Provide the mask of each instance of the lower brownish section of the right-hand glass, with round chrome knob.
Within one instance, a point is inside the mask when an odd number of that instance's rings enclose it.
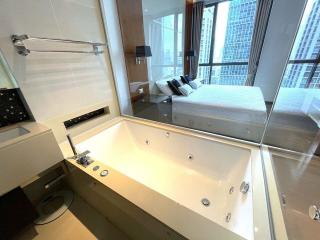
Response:
[[[320,159],[271,150],[278,197],[289,240],[317,239],[320,220]]]

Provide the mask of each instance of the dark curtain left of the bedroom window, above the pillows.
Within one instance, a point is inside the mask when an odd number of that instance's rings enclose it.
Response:
[[[191,19],[191,49],[195,51],[195,57],[190,58],[190,77],[192,79],[197,77],[198,62],[200,52],[200,38],[202,27],[202,15],[203,15],[204,2],[197,2],[192,7],[192,19]]]

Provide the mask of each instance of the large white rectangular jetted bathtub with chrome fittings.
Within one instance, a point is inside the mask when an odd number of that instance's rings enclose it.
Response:
[[[259,228],[267,232],[258,226],[268,222],[267,216],[260,216],[267,212],[261,205],[264,187],[253,192],[258,186],[254,178],[263,183],[262,173],[252,175],[253,166],[258,166],[252,164],[259,159],[257,148],[129,119],[83,138],[76,147],[90,150],[95,162],[87,168],[70,162],[183,236],[254,239]],[[96,165],[100,169],[95,172]],[[104,169],[107,177],[100,176]],[[243,181],[250,185],[246,194],[239,190]],[[209,206],[202,204],[203,198]]]

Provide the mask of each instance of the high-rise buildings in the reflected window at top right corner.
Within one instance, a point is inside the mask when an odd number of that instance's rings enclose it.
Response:
[[[310,9],[306,8],[305,20],[302,19],[300,29],[296,37],[290,60],[316,59],[320,51],[320,1],[310,1]],[[307,81],[311,76],[315,63],[288,64],[282,80],[282,87],[309,87],[320,88],[320,66],[311,79],[310,85]]]

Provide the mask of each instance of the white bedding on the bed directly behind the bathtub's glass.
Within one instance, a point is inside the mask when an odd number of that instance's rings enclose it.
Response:
[[[178,122],[181,114],[259,125],[267,117],[260,88],[229,85],[203,85],[189,96],[173,96],[172,114]]]

